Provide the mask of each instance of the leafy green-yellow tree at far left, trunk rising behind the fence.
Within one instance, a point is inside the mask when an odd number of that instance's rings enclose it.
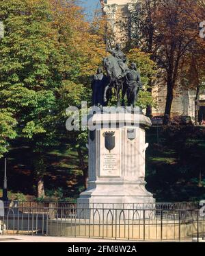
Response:
[[[58,54],[47,1],[0,2],[5,37],[0,46],[1,101],[18,121],[16,132],[32,148],[38,196],[44,196],[42,152],[53,145]]]

